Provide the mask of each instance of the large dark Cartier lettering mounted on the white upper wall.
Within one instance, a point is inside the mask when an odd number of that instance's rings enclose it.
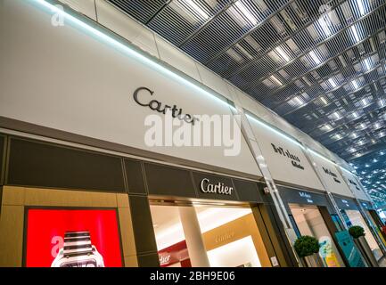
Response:
[[[142,96],[140,96],[140,91],[144,91]],[[133,98],[136,103],[143,107],[149,107],[151,110],[156,110],[161,114],[166,114],[167,111],[171,112],[173,118],[178,118],[186,123],[192,124],[194,126],[195,121],[199,120],[190,114],[183,114],[182,108],[177,108],[177,105],[168,105],[164,104],[157,100],[150,100],[149,95],[152,96],[154,91],[150,90],[147,87],[136,88],[136,91],[133,94]]]

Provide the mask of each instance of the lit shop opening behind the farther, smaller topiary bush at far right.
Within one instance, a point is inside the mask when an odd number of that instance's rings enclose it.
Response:
[[[370,232],[369,227],[365,224],[364,217],[360,214],[358,210],[349,210],[341,209],[341,215],[345,219],[345,222],[348,227],[352,225],[359,225],[365,230],[365,240],[367,241],[369,247],[373,251],[373,254],[377,260],[382,258],[382,251],[378,243],[374,239],[373,234]]]

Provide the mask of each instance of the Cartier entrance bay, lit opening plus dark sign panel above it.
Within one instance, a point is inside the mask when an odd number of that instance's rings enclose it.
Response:
[[[287,263],[262,183],[148,163],[144,173],[160,266]]]

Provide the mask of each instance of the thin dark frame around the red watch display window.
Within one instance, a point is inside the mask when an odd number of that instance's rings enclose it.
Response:
[[[115,218],[117,222],[117,235],[119,238],[119,261],[120,267],[125,267],[124,252],[122,245],[122,232],[120,230],[119,223],[119,213],[118,208],[113,207],[69,207],[69,206],[24,206],[24,223],[23,223],[23,243],[22,243],[22,256],[21,256],[21,266],[27,267],[27,236],[28,236],[28,227],[29,227],[29,210],[39,209],[39,210],[112,210],[115,212]]]

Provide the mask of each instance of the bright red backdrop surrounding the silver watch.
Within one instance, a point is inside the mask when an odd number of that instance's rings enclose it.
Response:
[[[50,267],[65,232],[87,231],[105,267],[122,265],[117,212],[113,209],[28,209],[26,266]]]

